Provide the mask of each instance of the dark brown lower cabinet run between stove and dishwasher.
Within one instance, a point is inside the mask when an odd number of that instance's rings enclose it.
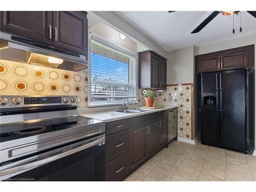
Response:
[[[121,181],[167,145],[168,111],[105,124],[105,180]]]

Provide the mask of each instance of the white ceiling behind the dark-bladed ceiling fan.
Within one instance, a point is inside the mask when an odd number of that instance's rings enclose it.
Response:
[[[256,18],[242,11],[242,29],[240,33],[240,15],[234,16],[232,34],[232,16],[219,14],[200,32],[191,32],[210,15],[212,11],[121,11],[116,12],[127,22],[146,34],[166,51],[188,46],[201,46],[225,39],[256,33]]]

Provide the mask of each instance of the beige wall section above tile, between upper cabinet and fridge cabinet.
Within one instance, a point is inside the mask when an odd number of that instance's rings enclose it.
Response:
[[[191,83],[194,75],[194,46],[168,52],[167,84]]]

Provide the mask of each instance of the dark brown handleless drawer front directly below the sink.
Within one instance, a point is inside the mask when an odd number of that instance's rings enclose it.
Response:
[[[141,124],[147,124],[150,122],[154,122],[156,120],[159,119],[159,113],[155,112],[155,113],[150,113],[150,114],[146,114],[146,115],[140,115],[137,117],[132,117],[131,118],[131,127],[134,126],[138,126]]]

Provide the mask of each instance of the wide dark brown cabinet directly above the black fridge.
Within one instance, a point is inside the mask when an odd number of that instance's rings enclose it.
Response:
[[[196,56],[196,73],[254,66],[254,45]]]

